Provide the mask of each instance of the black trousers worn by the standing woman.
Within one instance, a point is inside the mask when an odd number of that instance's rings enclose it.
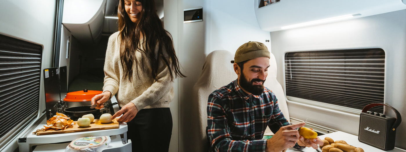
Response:
[[[172,135],[169,108],[141,109],[127,125],[133,152],[168,152]]]

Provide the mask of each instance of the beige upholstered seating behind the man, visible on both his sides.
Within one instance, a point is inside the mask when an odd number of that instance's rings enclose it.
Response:
[[[285,118],[290,122],[282,86],[276,81],[275,57],[272,53],[270,55],[270,67],[268,68],[268,77],[266,78],[264,86],[274,92],[276,98],[278,98],[281,111],[285,115]],[[196,141],[190,142],[193,142],[192,144],[196,146],[196,150],[199,152],[207,151],[207,137],[205,130],[207,126],[207,100],[209,94],[237,79],[237,74],[235,74],[233,70],[233,64],[230,62],[231,60],[234,60],[234,54],[230,51],[216,50],[210,53],[203,65],[203,71],[199,80],[193,87],[193,106],[199,107],[197,111],[197,115],[199,115],[197,116],[198,120],[195,120],[194,122],[199,125],[198,128],[192,128],[194,137],[197,137],[197,139],[194,139]],[[265,135],[273,135],[273,133],[267,128]]]

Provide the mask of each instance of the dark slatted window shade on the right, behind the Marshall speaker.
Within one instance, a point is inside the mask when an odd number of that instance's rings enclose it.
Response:
[[[288,52],[286,96],[363,109],[384,102],[384,70],[382,49]],[[383,106],[370,111],[383,113]]]

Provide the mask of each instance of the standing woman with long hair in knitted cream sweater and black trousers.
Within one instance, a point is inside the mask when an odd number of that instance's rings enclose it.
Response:
[[[132,151],[168,151],[172,133],[169,103],[173,79],[185,77],[170,34],[156,14],[154,0],[120,0],[119,31],[108,41],[103,93],[97,109],[116,95],[121,109],[112,119],[127,122]]]

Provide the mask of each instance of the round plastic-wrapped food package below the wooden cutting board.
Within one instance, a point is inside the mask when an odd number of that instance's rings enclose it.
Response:
[[[108,147],[110,141],[109,136],[82,137],[69,143],[65,152],[101,152]]]

